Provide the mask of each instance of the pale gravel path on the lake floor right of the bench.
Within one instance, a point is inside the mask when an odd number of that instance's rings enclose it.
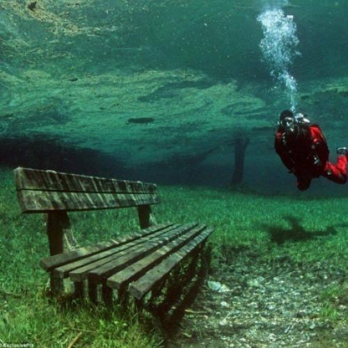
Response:
[[[329,262],[241,250],[209,280],[221,287],[203,287],[168,347],[348,347],[347,274]]]

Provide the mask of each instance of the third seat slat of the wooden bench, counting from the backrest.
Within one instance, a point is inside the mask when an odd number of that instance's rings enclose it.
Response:
[[[105,258],[97,262],[92,262],[85,267],[75,269],[74,271],[71,271],[69,273],[69,277],[73,281],[81,281],[89,276],[91,276],[91,278],[95,278],[98,276],[100,271],[104,272],[104,269],[107,269],[109,271],[110,268],[119,267],[120,262],[122,263],[125,258],[127,260],[134,260],[134,262],[136,262],[137,260],[135,260],[134,258],[139,257],[139,255],[144,255],[144,253],[149,251],[151,247],[153,248],[154,245],[158,246],[161,240],[177,236],[180,233],[184,233],[185,231],[194,228],[196,225],[197,223],[191,223],[184,226],[179,226],[174,230],[170,230],[169,232],[166,232],[166,234],[159,236],[159,238],[153,239],[152,242],[147,241],[147,243],[145,243],[141,248],[135,246],[115,256],[111,255],[109,258]],[[97,274],[92,274],[95,270],[97,270]]]

